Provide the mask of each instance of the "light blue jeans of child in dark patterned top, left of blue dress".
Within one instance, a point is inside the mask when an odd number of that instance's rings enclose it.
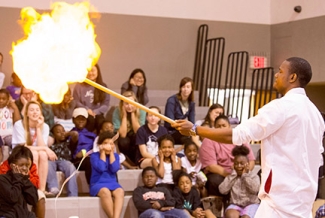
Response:
[[[56,177],[57,170],[62,171],[65,178],[68,178],[74,171],[76,171],[76,168],[73,163],[67,160],[49,160],[49,171],[46,180],[48,189],[59,188],[58,179]],[[75,175],[67,182],[67,191],[69,197],[78,196],[78,185]]]

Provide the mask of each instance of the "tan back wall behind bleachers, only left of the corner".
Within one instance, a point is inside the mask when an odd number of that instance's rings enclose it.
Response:
[[[6,85],[12,72],[11,43],[22,37],[19,13],[20,9],[0,7]],[[204,23],[209,25],[209,38],[226,38],[225,59],[232,51],[270,52],[269,25],[102,14],[95,21],[95,31],[105,82],[118,89],[140,67],[146,72],[149,89],[177,90],[181,78],[193,75],[197,30]]]

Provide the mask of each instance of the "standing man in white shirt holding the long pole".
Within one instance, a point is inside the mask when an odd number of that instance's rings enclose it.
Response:
[[[271,101],[233,130],[196,128],[185,120],[174,125],[182,134],[197,133],[218,142],[241,145],[261,140],[261,204],[257,218],[312,217],[325,125],[304,90],[311,77],[306,60],[288,58],[275,74],[273,84],[283,97]]]

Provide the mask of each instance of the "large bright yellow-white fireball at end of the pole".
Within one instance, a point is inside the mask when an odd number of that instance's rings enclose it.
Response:
[[[21,10],[24,38],[12,45],[13,69],[45,103],[60,103],[68,83],[82,82],[101,54],[90,4],[56,2],[51,13]]]

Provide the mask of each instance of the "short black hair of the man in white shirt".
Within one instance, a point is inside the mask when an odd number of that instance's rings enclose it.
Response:
[[[306,85],[310,82],[312,77],[311,66],[308,63],[308,61],[298,57],[291,57],[288,58],[286,61],[290,63],[289,73],[297,74],[300,87],[305,88]]]

